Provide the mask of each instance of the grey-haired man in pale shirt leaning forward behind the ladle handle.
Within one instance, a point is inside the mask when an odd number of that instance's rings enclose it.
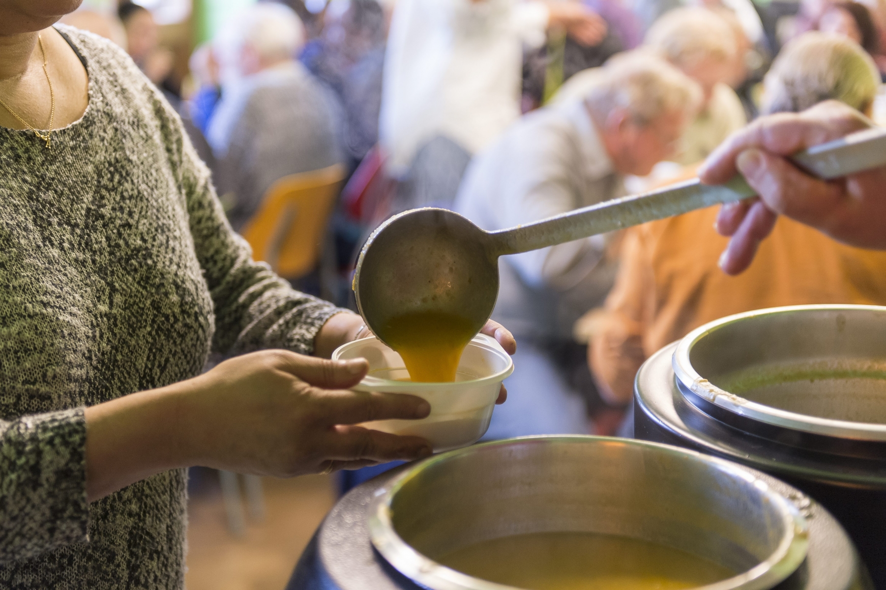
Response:
[[[632,53],[598,68],[583,100],[526,115],[473,159],[455,210],[483,229],[509,228],[620,197],[623,175],[647,175],[670,157],[701,90],[664,60]],[[607,242],[588,237],[501,258],[493,317],[507,319],[520,346],[509,407],[496,409],[487,438],[587,432],[582,400],[556,357],[572,324],[610,290]]]

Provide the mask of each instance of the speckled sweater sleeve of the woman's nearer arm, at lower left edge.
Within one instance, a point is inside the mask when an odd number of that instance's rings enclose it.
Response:
[[[0,420],[0,563],[85,542],[82,408]]]

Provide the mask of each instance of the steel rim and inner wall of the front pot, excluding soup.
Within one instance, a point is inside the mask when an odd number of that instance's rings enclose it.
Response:
[[[803,499],[795,499],[803,502]],[[705,590],[772,588],[803,562],[795,501],[747,470],[637,440],[532,437],[417,464],[379,489],[369,534],[397,570],[434,590],[506,590],[433,561],[527,532],[600,532],[680,548],[741,572]]]

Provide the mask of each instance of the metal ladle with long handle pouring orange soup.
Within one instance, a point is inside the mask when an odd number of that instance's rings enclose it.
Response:
[[[791,159],[823,179],[880,167],[886,165],[886,129],[859,131]],[[498,297],[499,256],[753,195],[741,176],[722,185],[696,179],[498,231],[479,229],[446,209],[413,209],[385,221],[363,245],[354,275],[357,308],[369,330],[386,344],[388,322],[413,312],[459,315],[470,319],[476,333],[489,319]]]

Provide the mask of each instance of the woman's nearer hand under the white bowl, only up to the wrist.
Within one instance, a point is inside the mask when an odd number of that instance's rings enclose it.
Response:
[[[369,363],[328,361],[284,350],[224,361],[193,381],[182,401],[191,462],[275,477],[315,473],[335,462],[357,469],[431,454],[424,439],[370,431],[357,423],[424,418],[411,395],[348,391]]]

